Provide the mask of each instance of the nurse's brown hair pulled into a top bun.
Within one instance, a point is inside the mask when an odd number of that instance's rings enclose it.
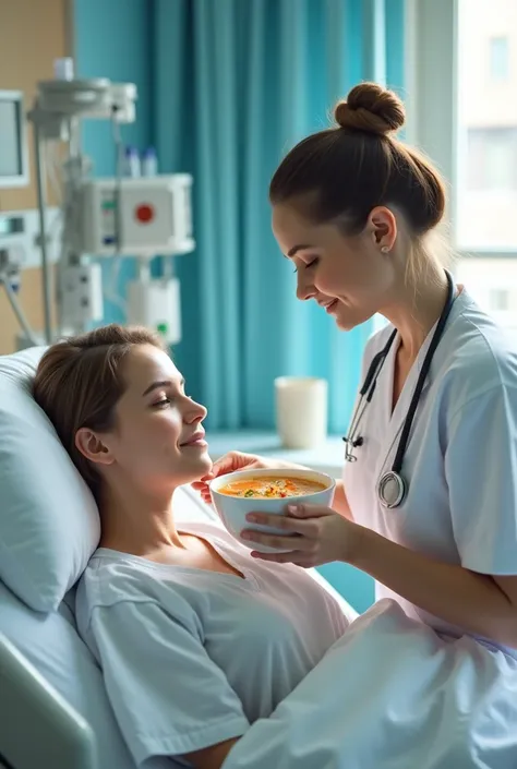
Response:
[[[272,204],[306,196],[312,220],[335,220],[348,235],[363,230],[372,208],[389,204],[404,214],[410,236],[435,227],[445,187],[429,160],[393,137],[405,121],[398,96],[362,83],[334,115],[335,128],[308,136],[284,158],[270,182]]]

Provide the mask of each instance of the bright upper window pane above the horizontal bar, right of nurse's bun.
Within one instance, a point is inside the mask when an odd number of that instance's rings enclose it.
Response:
[[[517,250],[516,0],[458,0],[456,45],[456,243]]]

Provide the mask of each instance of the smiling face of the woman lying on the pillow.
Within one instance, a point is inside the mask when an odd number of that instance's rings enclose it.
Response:
[[[204,406],[189,398],[170,358],[152,345],[135,346],[124,361],[127,389],[116,428],[103,441],[109,472],[153,492],[200,479],[212,468],[204,441]]]

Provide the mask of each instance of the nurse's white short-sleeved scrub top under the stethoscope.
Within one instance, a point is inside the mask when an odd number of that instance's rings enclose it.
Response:
[[[363,375],[392,331],[383,328],[370,340]],[[465,289],[455,299],[412,423],[401,470],[407,496],[393,509],[378,502],[377,481],[392,468],[433,333],[393,413],[398,337],[392,345],[361,425],[364,444],[357,449],[357,461],[345,467],[353,517],[446,563],[482,574],[517,575],[517,347]],[[438,632],[464,633],[378,582],[376,597],[395,599],[408,616]]]

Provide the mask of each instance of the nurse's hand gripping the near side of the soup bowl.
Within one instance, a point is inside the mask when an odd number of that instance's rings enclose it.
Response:
[[[286,532],[286,536],[281,536],[244,529],[241,537],[250,542],[289,551],[253,551],[253,557],[276,563],[293,563],[304,568],[321,566],[332,561],[350,561],[358,546],[361,528],[330,507],[320,505],[288,505],[285,516],[249,513],[247,520],[249,524],[272,526]]]

